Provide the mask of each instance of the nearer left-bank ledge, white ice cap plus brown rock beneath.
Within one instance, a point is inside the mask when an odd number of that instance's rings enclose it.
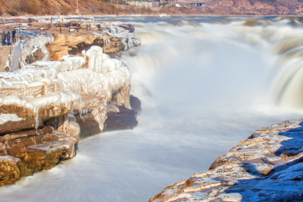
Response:
[[[75,157],[80,126],[74,115],[91,115],[98,133],[108,114],[133,119],[130,84],[128,69],[100,46],[0,72],[0,185]]]

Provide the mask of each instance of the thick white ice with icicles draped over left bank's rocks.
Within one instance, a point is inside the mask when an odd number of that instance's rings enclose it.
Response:
[[[93,110],[101,130],[106,120],[107,104],[114,92],[117,102],[130,108],[131,75],[121,61],[103,54],[99,46],[83,52],[83,57],[64,56],[62,62],[38,61],[27,65],[27,69],[0,73],[0,78],[0,95],[3,96],[0,103],[33,111],[37,116],[36,127],[42,120],[39,119],[39,109],[65,106],[70,111],[77,102],[81,102],[81,96],[95,96],[93,99],[100,100],[89,105],[86,98],[82,101],[83,106],[77,108]]]

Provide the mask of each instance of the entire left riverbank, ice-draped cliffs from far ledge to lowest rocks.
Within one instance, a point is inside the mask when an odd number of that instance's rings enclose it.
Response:
[[[138,124],[140,101],[130,95],[130,72],[107,53],[127,51],[141,39],[129,24],[104,22],[93,31],[89,25],[24,23],[17,42],[2,46],[7,61],[0,72],[1,186],[74,158],[81,133]],[[81,132],[79,124],[90,130]]]

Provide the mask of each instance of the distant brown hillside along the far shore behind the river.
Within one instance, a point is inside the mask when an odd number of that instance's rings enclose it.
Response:
[[[303,15],[303,0],[211,0],[202,7],[144,8],[78,0],[80,15]],[[186,2],[190,2],[186,1]],[[192,0],[198,1],[198,0]],[[201,0],[200,2],[205,2]],[[76,0],[0,0],[1,16],[75,15]],[[117,0],[113,0],[117,2]]]

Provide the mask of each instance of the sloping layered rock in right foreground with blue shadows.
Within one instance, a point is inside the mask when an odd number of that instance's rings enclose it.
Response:
[[[302,201],[303,120],[257,130],[209,171],[165,188],[159,201]]]

